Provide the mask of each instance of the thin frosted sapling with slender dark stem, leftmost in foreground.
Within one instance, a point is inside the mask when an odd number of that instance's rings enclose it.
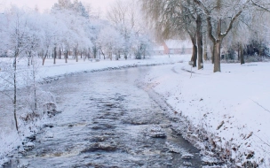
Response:
[[[5,88],[12,88],[12,95],[8,95],[12,100],[13,106],[13,116],[15,121],[16,130],[19,132],[18,126],[18,85],[21,82],[21,70],[18,67],[18,63],[25,53],[29,50],[36,49],[37,40],[30,38],[36,38],[34,32],[31,31],[31,24],[28,24],[28,13],[26,11],[20,10],[15,6],[9,11],[4,13],[2,18],[4,22],[4,29],[1,29],[1,34],[4,35],[2,50],[9,53],[8,56],[11,57],[9,61],[4,64],[4,73],[1,73],[2,84]],[[34,30],[33,30],[34,31]],[[35,36],[35,37],[34,37]]]

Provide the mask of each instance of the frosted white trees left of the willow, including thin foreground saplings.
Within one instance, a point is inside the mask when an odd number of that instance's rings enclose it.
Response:
[[[59,0],[50,12],[39,13],[12,6],[0,14],[0,56],[10,57],[0,60],[0,92],[12,100],[18,132],[18,96],[26,96],[18,92],[20,83],[26,81],[23,76],[28,76],[28,95],[33,97],[29,111],[37,111],[36,59],[42,59],[44,65],[47,57],[53,57],[54,64],[57,58],[64,58],[67,63],[69,56],[78,61],[79,56],[84,60],[97,58],[98,52],[110,59],[113,55],[116,59],[121,56],[127,59],[128,55],[145,57],[151,42],[137,25],[135,5],[131,18],[124,11],[125,21],[113,20],[113,15],[117,15],[115,10],[121,8],[119,3],[108,12],[109,21],[91,16],[91,12],[77,0]],[[25,59],[27,64],[22,65]]]

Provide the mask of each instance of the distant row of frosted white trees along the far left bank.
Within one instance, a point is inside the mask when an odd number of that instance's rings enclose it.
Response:
[[[115,4],[115,8],[120,8]],[[116,9],[112,8],[111,12]],[[143,32],[134,27],[128,27],[127,22],[119,23],[113,20],[113,14],[108,12],[108,19],[91,17],[83,4],[75,0],[59,0],[52,6],[49,13],[26,11],[12,6],[0,18],[1,56],[41,57],[43,65],[47,57],[64,57],[72,53],[78,61],[78,56],[94,57],[100,50],[103,55],[123,53],[124,57],[137,55],[142,49],[150,46],[150,41]],[[110,16],[110,17],[109,17]],[[141,47],[144,46],[144,47]],[[105,56],[104,56],[105,57]],[[116,57],[116,59],[118,58]]]

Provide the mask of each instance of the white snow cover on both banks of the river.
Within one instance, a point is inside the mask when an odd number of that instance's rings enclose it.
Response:
[[[57,59],[56,65],[52,64],[52,59],[47,59],[44,66],[39,66],[39,80],[165,64],[150,71],[144,82],[163,96],[176,115],[187,117],[195,128],[203,128],[212,144],[217,149],[228,149],[228,155],[239,165],[251,157],[251,161],[257,163],[264,160],[262,167],[269,167],[270,64],[222,64],[222,73],[212,73],[213,65],[205,64],[203,70],[193,68],[191,76],[188,72],[191,67],[187,65],[189,59],[189,56],[158,56],[145,60],[79,60],[78,63],[68,60],[68,64],[64,63],[64,59]],[[4,127],[0,129],[4,130]],[[193,135],[196,136],[195,133]],[[0,158],[20,143],[15,137],[12,132],[0,134]],[[196,146],[203,149],[203,142]]]

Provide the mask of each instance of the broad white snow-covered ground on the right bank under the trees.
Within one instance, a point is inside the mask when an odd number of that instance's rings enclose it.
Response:
[[[216,149],[227,149],[238,165],[250,157],[270,167],[270,64],[221,67],[222,73],[212,73],[213,66],[205,64],[191,76],[187,63],[165,65],[145,80],[176,114],[207,131]]]

